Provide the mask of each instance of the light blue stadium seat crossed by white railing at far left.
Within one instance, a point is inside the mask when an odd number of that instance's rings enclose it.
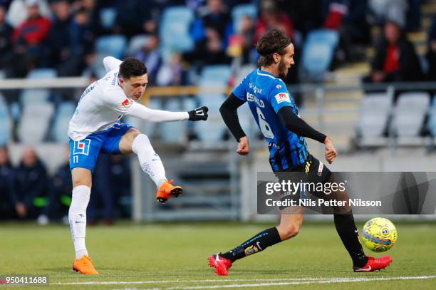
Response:
[[[53,68],[36,68],[30,71],[26,78],[28,79],[44,79],[56,78],[57,73]],[[29,88],[21,92],[21,103],[41,103],[46,102],[50,97],[50,90],[46,88]]]

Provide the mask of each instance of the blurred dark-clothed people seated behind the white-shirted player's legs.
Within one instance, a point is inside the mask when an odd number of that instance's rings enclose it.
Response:
[[[65,162],[53,175],[27,147],[18,166],[11,164],[6,147],[0,147],[0,219],[37,219],[68,223],[71,203],[69,150]],[[93,195],[88,206],[88,222],[103,220],[113,224],[115,218],[131,216],[130,163],[120,155],[100,155],[93,175]]]

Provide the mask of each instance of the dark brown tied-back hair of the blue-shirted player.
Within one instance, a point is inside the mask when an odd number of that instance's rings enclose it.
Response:
[[[259,58],[259,66],[270,66],[274,63],[273,54],[279,53],[284,55],[286,47],[291,44],[291,38],[286,36],[284,31],[280,29],[269,29],[257,41],[256,50],[261,55]]]

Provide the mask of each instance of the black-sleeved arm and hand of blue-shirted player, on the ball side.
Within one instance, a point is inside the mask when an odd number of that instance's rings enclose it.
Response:
[[[296,133],[297,135],[316,140],[319,143],[324,143],[326,145],[325,155],[327,162],[331,163],[335,160],[338,153],[336,152],[336,149],[330,138],[313,129],[311,125],[306,123],[306,121],[299,118],[299,116],[297,116],[292,110],[292,107],[282,107],[279,112],[277,112],[277,115],[279,115],[281,122],[288,130]]]

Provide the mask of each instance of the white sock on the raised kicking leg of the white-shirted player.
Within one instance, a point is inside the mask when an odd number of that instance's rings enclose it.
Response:
[[[137,155],[142,171],[151,177],[157,188],[159,188],[163,182],[167,181],[162,161],[155,150],[153,150],[147,135],[137,135],[135,140],[133,140],[132,150]]]

